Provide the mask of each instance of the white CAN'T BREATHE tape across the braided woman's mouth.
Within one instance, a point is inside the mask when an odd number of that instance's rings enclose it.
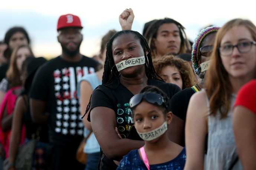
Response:
[[[118,71],[121,71],[122,69],[125,69],[127,67],[141,65],[141,64],[145,64],[145,56],[129,58],[127,60],[118,62],[117,64],[115,64],[115,66]]]

